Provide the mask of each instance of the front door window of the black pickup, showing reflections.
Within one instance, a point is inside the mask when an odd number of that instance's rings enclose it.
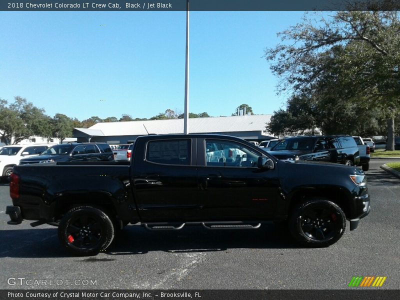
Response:
[[[205,141],[205,165],[207,166],[256,166],[260,153],[235,141]]]

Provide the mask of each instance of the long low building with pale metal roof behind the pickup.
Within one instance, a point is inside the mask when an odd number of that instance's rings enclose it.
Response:
[[[265,126],[271,114],[242,116],[201,117],[188,119],[189,133],[220,133],[238,136],[248,140],[270,138]],[[77,141],[103,141],[107,143],[127,143],[148,133],[183,133],[183,119],[145,120],[97,123],[89,128],[74,128]]]

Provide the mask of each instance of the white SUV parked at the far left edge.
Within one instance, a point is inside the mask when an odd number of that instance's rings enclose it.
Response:
[[[36,156],[50,147],[50,144],[8,145],[0,149],[0,174],[8,176],[14,165],[25,157]]]

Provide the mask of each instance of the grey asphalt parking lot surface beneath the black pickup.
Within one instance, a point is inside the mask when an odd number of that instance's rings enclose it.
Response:
[[[400,179],[379,168],[387,161],[372,159],[366,172],[370,214],[355,231],[347,222],[335,244],[316,249],[298,247],[272,223],[258,230],[173,232],[131,225],[106,253],[72,257],[55,227],[6,223],[10,198],[1,184],[0,288],[346,289],[352,276],[386,276],[380,288],[398,289]]]

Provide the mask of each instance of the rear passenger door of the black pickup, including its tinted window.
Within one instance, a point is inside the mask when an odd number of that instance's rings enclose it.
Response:
[[[142,221],[198,217],[195,140],[149,136],[136,142],[131,179]]]

